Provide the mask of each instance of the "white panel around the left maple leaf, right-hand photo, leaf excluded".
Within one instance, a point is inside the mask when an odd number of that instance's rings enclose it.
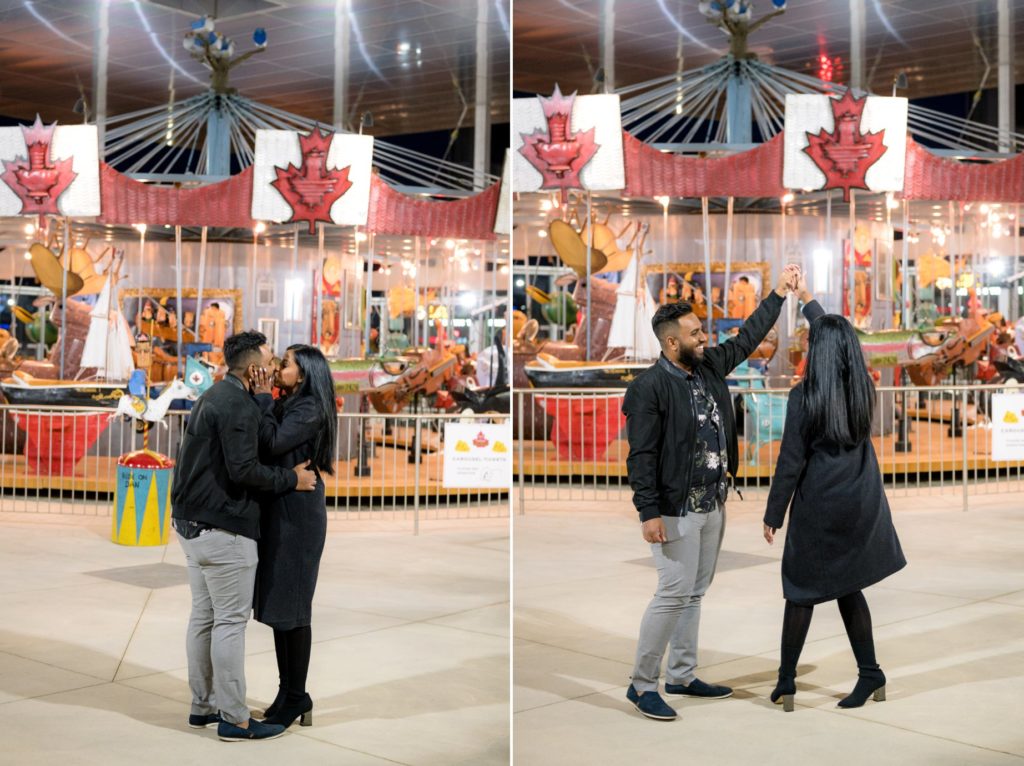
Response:
[[[597,151],[579,171],[579,183],[554,181],[523,155],[534,136],[551,139],[550,126],[542,101],[562,99],[557,87],[552,99],[543,97],[512,99],[512,190],[540,192],[546,188],[587,188],[594,192],[626,186],[623,160],[623,119],[618,96],[614,94],[566,96],[572,100],[568,124],[569,140],[592,141]],[[593,130],[592,136],[587,136]],[[536,162],[536,161],[535,161]]]

